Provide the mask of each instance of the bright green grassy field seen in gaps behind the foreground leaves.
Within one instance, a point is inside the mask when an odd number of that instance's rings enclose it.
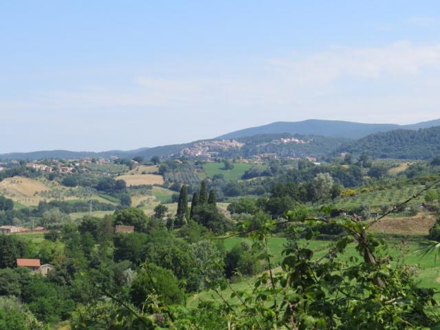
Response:
[[[244,239],[246,241],[250,241],[250,239]],[[224,241],[224,246],[226,250],[232,249],[232,247],[238,243],[243,241],[243,238],[233,237],[230,239],[226,239]],[[420,282],[422,287],[432,287],[434,289],[440,289],[440,265],[439,263],[434,262],[434,255],[428,255],[424,258],[421,258],[417,253],[419,249],[419,244],[415,241],[410,241],[408,243],[402,244],[397,239],[388,239],[388,255],[393,258],[392,263],[396,263],[397,259],[402,263],[407,265],[415,265],[419,267],[417,272],[417,280]],[[283,260],[282,252],[284,250],[283,245],[285,244],[286,239],[272,237],[268,240],[268,248],[273,258],[272,261],[274,263],[274,271],[280,270],[278,267]],[[314,258],[318,259],[321,256],[324,256],[328,248],[331,244],[331,241],[305,241],[300,240],[301,244],[308,244],[311,250],[316,251],[314,253]],[[352,243],[347,247],[347,250],[340,256],[344,260],[348,260],[351,256],[356,258],[360,258],[359,253],[355,250],[355,244]],[[252,292],[252,285],[255,281],[255,278],[243,278],[242,281],[237,283],[232,283],[231,286],[234,290],[239,291],[247,291]],[[225,291],[221,292],[223,298],[228,300],[230,303],[239,303],[237,298],[230,298],[232,294],[231,289],[225,289]],[[199,301],[201,300],[216,300],[219,301],[219,297],[212,290],[207,290],[204,292],[199,292],[193,296],[188,297],[188,307],[195,308],[197,307]]]

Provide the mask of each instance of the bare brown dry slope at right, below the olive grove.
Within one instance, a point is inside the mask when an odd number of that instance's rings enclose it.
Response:
[[[423,212],[410,218],[386,217],[371,226],[371,232],[386,234],[426,235],[435,223],[435,217]]]

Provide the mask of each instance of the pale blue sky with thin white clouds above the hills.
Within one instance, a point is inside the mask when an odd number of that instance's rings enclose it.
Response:
[[[1,1],[0,153],[440,118],[439,1],[362,2]]]

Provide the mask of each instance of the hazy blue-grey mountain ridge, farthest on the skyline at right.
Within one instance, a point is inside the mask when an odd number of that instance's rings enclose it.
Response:
[[[322,135],[329,137],[344,137],[359,139],[366,135],[378,132],[392,131],[394,129],[426,129],[432,126],[440,126],[440,119],[416,124],[366,124],[362,122],[345,122],[342,120],[318,120],[309,119],[301,122],[272,122],[263,126],[241,129],[224,135],[217,139],[237,139],[239,137],[257,134],[290,133],[303,135]]]

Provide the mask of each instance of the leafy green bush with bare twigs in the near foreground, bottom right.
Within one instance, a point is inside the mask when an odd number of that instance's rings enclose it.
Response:
[[[219,296],[218,303],[200,303],[197,309],[168,305],[159,292],[149,294],[140,311],[126,311],[118,326],[109,329],[433,329],[439,319],[428,313],[437,307],[434,290],[417,285],[415,270],[386,255],[386,243],[367,233],[369,225],[358,217],[317,217],[297,208],[285,222],[307,227],[288,228],[285,258],[275,272],[267,250],[267,236],[275,223],[265,219],[252,232],[254,248],[266,261],[252,290],[236,291],[221,277],[208,277],[206,285]],[[340,226],[345,235],[325,256],[300,245],[299,236],[311,239],[316,223]],[[304,229],[305,228],[305,229]],[[355,243],[358,257],[344,258]],[[215,267],[216,261],[210,263]],[[220,267],[220,265],[219,265]],[[228,300],[224,289],[232,291]],[[238,301],[238,303],[231,303]],[[126,323],[124,323],[126,322]],[[74,329],[85,329],[76,327]]]

